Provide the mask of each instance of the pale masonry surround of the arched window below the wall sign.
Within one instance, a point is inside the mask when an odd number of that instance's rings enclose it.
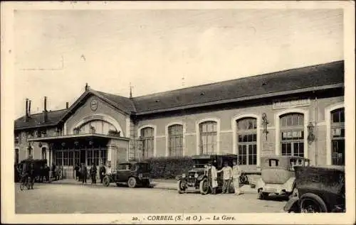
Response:
[[[276,126],[276,155],[280,155],[281,150],[280,148],[280,141],[279,141],[279,136],[280,136],[280,116],[283,114],[290,114],[290,113],[299,113],[299,114],[304,114],[304,158],[308,158],[308,123],[309,123],[309,110],[308,109],[286,109],[283,111],[279,111],[277,114],[275,114],[274,117],[274,123]]]

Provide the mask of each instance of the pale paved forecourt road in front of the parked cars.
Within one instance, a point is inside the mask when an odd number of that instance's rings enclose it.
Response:
[[[101,185],[15,184],[16,213],[246,213],[283,212],[285,201],[258,200],[256,194],[178,194],[155,188]]]

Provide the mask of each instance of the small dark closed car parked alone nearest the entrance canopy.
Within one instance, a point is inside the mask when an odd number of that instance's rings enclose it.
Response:
[[[143,162],[127,162],[117,165],[117,170],[103,178],[103,185],[108,187],[110,182],[115,182],[117,186],[120,183],[127,183],[128,187],[151,187],[150,165]]]

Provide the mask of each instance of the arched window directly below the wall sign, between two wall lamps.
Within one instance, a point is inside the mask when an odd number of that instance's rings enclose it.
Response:
[[[280,117],[281,155],[304,157],[304,115],[284,114]]]

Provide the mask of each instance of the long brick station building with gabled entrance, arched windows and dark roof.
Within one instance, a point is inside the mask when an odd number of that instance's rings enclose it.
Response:
[[[243,170],[266,155],[345,164],[344,62],[205,84],[141,97],[85,92],[66,109],[15,121],[15,161],[63,165],[235,153]]]

